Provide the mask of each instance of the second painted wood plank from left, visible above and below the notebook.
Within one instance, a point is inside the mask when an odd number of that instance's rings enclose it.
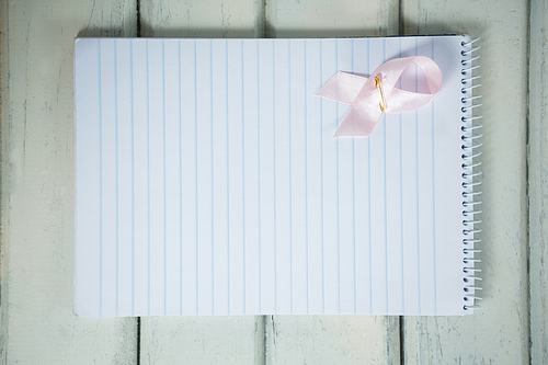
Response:
[[[141,35],[255,37],[264,31],[262,1],[150,0],[141,3]],[[262,364],[262,317],[141,319],[141,364]]]

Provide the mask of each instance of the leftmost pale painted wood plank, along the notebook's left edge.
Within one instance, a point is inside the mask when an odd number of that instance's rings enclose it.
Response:
[[[72,312],[72,50],[79,34],[135,35],[136,2],[3,1],[1,11],[2,363],[133,364],[135,319]]]

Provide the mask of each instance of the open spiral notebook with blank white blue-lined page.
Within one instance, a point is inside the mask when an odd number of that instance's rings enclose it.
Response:
[[[77,39],[75,312],[471,313],[473,42]],[[410,56],[437,96],[334,137],[322,85]],[[413,65],[396,87],[429,92]]]

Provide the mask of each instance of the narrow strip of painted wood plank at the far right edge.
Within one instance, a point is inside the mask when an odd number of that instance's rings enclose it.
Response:
[[[530,360],[548,363],[548,4],[530,2],[529,283]]]

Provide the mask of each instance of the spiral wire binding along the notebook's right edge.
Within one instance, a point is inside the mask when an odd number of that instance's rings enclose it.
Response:
[[[476,292],[481,289],[481,287],[478,286],[478,282],[481,281],[478,273],[480,273],[481,270],[475,266],[476,263],[481,262],[481,260],[475,258],[476,253],[481,252],[481,250],[475,248],[476,243],[481,242],[481,239],[476,237],[476,233],[481,232],[481,230],[477,228],[477,225],[481,223],[478,218],[478,215],[481,213],[479,209],[481,205],[481,201],[479,199],[481,196],[481,190],[479,189],[481,185],[481,180],[479,180],[481,171],[477,169],[481,162],[476,159],[481,155],[479,148],[482,146],[482,142],[479,141],[479,139],[483,136],[478,132],[481,129],[482,125],[477,122],[481,119],[481,115],[473,114],[473,110],[481,106],[481,104],[476,103],[481,95],[473,94],[473,91],[481,85],[479,83],[475,84],[473,81],[478,80],[480,76],[472,75],[473,70],[479,68],[479,65],[472,65],[473,61],[479,59],[479,56],[472,55],[472,53],[480,48],[479,46],[473,46],[473,43],[478,39],[479,37],[470,39],[467,36],[465,41],[460,43],[463,46],[463,50],[460,52],[463,56],[460,61],[463,65],[460,71],[463,75],[463,79],[460,80],[463,84],[460,89],[463,94],[460,99],[463,103],[463,126],[460,129],[463,130],[463,272],[465,273],[463,277],[465,283],[463,300],[465,310],[481,308],[476,304],[477,300],[481,299],[476,296]]]

